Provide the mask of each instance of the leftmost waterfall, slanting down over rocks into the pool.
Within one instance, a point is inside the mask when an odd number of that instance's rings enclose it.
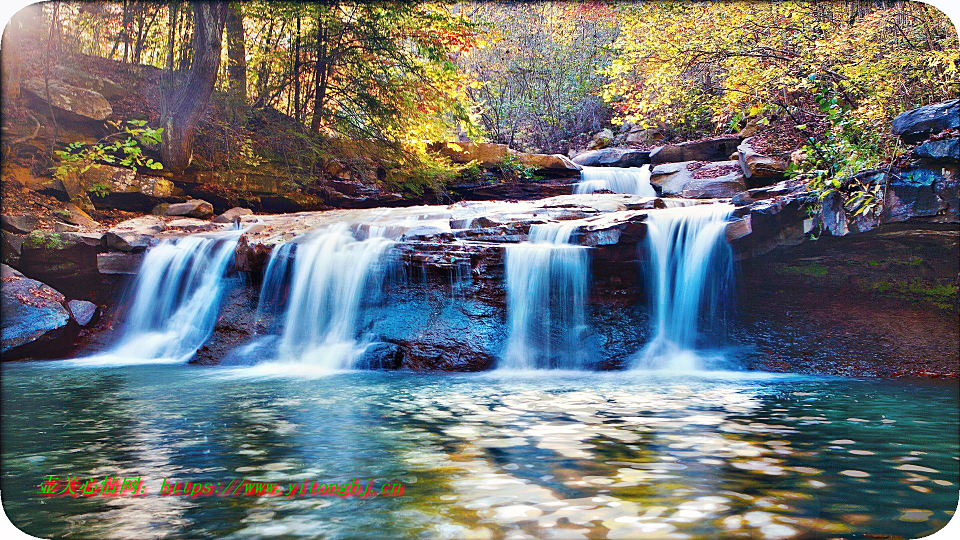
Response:
[[[165,240],[150,249],[133,283],[114,363],[186,362],[213,332],[241,231]]]

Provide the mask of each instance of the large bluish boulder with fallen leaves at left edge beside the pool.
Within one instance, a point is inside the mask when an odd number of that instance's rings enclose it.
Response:
[[[0,265],[0,307],[3,311],[0,352],[7,360],[67,337],[70,312],[56,289]]]

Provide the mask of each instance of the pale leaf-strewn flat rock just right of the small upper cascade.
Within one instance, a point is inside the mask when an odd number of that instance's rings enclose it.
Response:
[[[657,165],[650,170],[650,183],[664,196],[690,199],[732,197],[747,189],[736,161],[684,161]]]

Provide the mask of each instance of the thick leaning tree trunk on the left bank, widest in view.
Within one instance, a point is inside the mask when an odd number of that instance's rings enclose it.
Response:
[[[190,165],[194,130],[217,82],[220,44],[227,18],[226,2],[192,4],[193,61],[186,81],[176,88],[165,89],[160,113],[163,166],[175,173],[183,172]]]

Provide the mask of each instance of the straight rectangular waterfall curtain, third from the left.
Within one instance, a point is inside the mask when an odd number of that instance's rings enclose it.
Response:
[[[534,225],[506,249],[509,338],[500,368],[582,369],[589,257],[574,225]]]

